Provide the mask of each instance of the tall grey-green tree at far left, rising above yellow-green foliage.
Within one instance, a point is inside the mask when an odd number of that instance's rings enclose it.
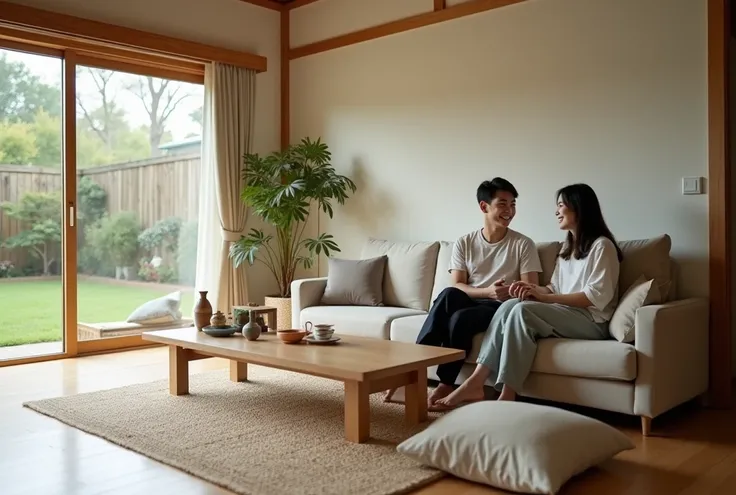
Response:
[[[60,87],[42,82],[23,62],[0,52],[0,122],[31,123],[39,110],[61,116]]]

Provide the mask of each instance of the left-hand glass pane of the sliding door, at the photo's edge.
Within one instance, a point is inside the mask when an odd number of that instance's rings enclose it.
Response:
[[[0,48],[0,360],[63,352],[61,75]]]

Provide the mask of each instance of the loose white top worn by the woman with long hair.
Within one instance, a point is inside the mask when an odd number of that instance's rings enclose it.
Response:
[[[607,237],[599,237],[583,259],[558,257],[548,287],[555,294],[583,292],[593,303],[587,308],[593,320],[598,323],[609,321],[618,304],[619,268],[613,242]]]

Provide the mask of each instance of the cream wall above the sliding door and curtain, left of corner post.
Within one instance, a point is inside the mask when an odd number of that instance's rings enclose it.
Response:
[[[268,58],[257,76],[254,151],[279,147],[279,13],[239,0],[11,0],[44,10],[151,31]],[[251,217],[253,218],[253,217]],[[249,227],[259,223],[249,223]],[[275,282],[261,266],[248,270],[251,298],[263,300]]]

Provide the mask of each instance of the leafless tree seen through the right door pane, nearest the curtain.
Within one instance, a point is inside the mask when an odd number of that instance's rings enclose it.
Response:
[[[158,147],[166,132],[166,122],[176,107],[190,95],[182,91],[183,86],[170,79],[138,76],[128,85],[128,90],[141,100],[148,113],[148,128],[151,156],[158,156]]]

